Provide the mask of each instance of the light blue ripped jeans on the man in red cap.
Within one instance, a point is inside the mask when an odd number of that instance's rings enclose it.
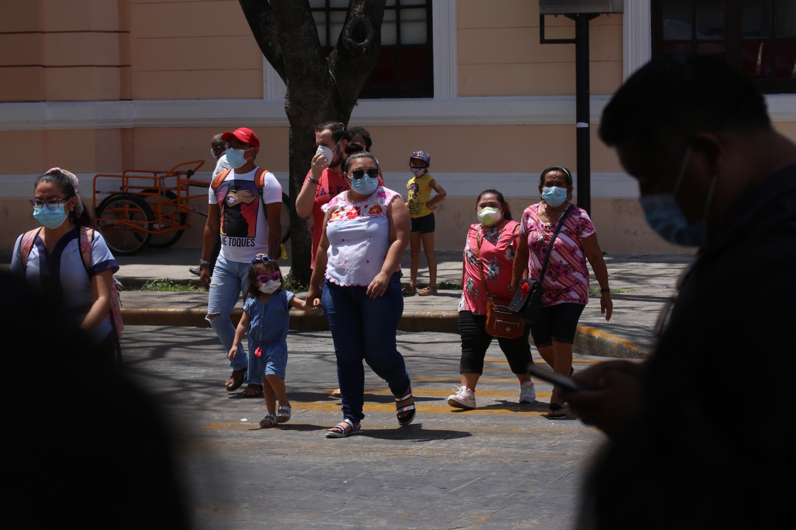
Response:
[[[238,303],[240,293],[245,293],[248,289],[248,270],[251,263],[240,263],[228,261],[219,257],[216,267],[213,267],[213,278],[210,279],[210,296],[207,302],[207,314],[218,314],[213,320],[209,320],[210,327],[216,332],[221,344],[224,345],[224,357],[232,349],[232,342],[235,341],[235,326],[229,319],[232,309]],[[252,349],[252,341],[248,341],[249,350]],[[243,370],[248,368],[248,357],[243,345],[240,345],[238,354],[234,360],[229,361],[233,370]],[[247,382],[244,380],[244,383]],[[258,383],[258,381],[252,381]]]

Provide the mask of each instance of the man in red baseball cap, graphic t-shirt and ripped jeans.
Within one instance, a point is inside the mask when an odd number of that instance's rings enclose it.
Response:
[[[257,167],[259,138],[246,127],[221,134],[227,142],[227,163],[232,170],[218,173],[209,189],[209,208],[202,238],[200,279],[209,290],[207,319],[228,352],[235,338],[235,326],[229,319],[241,291],[248,289],[248,269],[257,254],[279,256],[282,234],[282,186],[273,173]],[[221,251],[211,279],[208,262],[217,236]],[[250,345],[251,346],[251,345]],[[251,348],[250,348],[251,349]],[[237,355],[229,363],[232,376],[226,381],[232,392],[244,383],[248,356]],[[262,373],[248,373],[244,397],[263,394]]]

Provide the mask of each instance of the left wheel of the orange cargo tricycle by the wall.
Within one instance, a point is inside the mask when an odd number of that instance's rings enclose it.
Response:
[[[97,207],[96,216],[105,243],[115,255],[136,255],[152,239],[146,230],[154,230],[154,213],[141,197],[114,193]]]

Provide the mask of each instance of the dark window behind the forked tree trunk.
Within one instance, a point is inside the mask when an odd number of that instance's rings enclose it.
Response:
[[[326,55],[338,43],[349,0],[310,0]],[[434,97],[431,0],[387,0],[381,51],[359,97]]]

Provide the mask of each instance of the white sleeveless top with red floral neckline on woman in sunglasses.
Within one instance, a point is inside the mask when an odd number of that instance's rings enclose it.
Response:
[[[329,217],[326,279],[341,286],[368,286],[380,273],[390,247],[387,206],[400,193],[379,186],[361,202],[340,193],[321,207]]]

